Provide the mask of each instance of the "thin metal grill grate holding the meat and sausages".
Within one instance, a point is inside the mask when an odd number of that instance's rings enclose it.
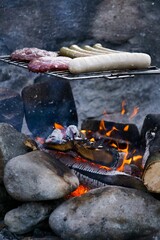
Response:
[[[28,69],[28,63],[20,62],[20,61],[13,61],[10,59],[9,55],[0,56],[0,61],[9,63],[18,67]],[[69,71],[54,71],[54,72],[45,72],[47,75],[60,77],[67,80],[82,80],[82,79],[94,79],[94,78],[106,78],[108,80],[113,79],[122,79],[122,78],[130,78],[134,77],[135,75],[148,75],[148,74],[160,74],[160,69],[154,66],[151,66],[148,69],[143,70],[129,70],[129,71],[103,71],[103,72],[91,72],[91,73],[84,73],[84,74],[72,74]]]

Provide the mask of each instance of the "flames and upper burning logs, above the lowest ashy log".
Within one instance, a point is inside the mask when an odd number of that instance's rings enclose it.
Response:
[[[129,119],[137,114],[137,109],[134,108]],[[125,102],[122,101],[121,115],[125,112]],[[87,162],[91,168],[92,165],[99,168],[99,173],[100,169],[102,172],[105,169],[106,172],[129,172],[130,175],[141,177],[144,149],[135,125],[90,120],[82,123],[80,131],[74,125],[65,128],[57,123],[53,128],[48,138],[40,139],[40,143],[45,143],[47,149],[58,150],[57,155],[67,152],[72,156],[74,152],[77,154],[75,161],[80,166],[81,162]]]

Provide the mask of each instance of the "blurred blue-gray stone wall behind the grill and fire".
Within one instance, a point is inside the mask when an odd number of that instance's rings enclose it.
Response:
[[[8,0],[0,8],[1,53],[10,54],[22,47],[58,50],[71,44],[100,42],[113,49],[146,52],[151,55],[152,65],[159,66],[159,9],[160,2],[150,0],[86,0],[67,4],[65,0]],[[0,86],[20,91],[32,84],[36,76],[3,64]],[[149,75],[127,80],[71,81],[79,125],[83,119],[95,117],[131,122],[141,128],[147,114],[159,112],[159,78]],[[124,116],[120,115],[122,100],[127,103]],[[139,108],[139,113],[130,119],[134,107]]]

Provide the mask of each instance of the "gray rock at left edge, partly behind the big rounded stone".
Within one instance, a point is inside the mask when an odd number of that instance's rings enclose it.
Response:
[[[0,123],[0,181],[5,164],[13,157],[25,154],[28,148],[24,142],[28,137],[7,123]]]

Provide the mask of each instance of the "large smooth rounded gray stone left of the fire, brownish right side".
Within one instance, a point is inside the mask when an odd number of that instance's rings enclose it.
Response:
[[[79,181],[68,167],[37,150],[6,164],[4,184],[14,199],[40,201],[64,197],[78,187]]]

